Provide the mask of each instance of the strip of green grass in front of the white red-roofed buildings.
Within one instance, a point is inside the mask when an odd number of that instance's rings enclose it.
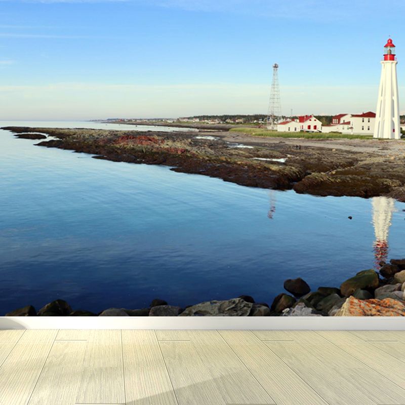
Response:
[[[270,138],[306,138],[306,139],[373,139],[372,135],[349,135],[321,132],[278,132],[269,131],[264,128],[232,128],[230,132],[240,132],[252,136],[270,137]]]

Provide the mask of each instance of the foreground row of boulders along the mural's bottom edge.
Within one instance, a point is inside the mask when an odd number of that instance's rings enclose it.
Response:
[[[242,295],[181,308],[154,299],[148,308],[108,308],[99,313],[73,310],[58,299],[38,311],[32,305],[5,316],[405,316],[405,259],[381,262],[380,270],[362,270],[337,287],[311,291],[302,279],[288,279],[269,305]]]

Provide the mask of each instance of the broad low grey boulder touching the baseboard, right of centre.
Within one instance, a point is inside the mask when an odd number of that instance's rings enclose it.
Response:
[[[180,316],[248,316],[253,304],[241,298],[227,301],[207,301],[192,305]]]

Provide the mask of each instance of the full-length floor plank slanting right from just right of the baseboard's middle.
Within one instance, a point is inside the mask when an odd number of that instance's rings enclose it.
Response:
[[[219,333],[277,405],[327,405],[317,392],[252,332]]]

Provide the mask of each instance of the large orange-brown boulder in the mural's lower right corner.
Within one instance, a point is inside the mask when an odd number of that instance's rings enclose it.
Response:
[[[335,316],[405,316],[405,303],[391,298],[358,300],[349,297]]]

